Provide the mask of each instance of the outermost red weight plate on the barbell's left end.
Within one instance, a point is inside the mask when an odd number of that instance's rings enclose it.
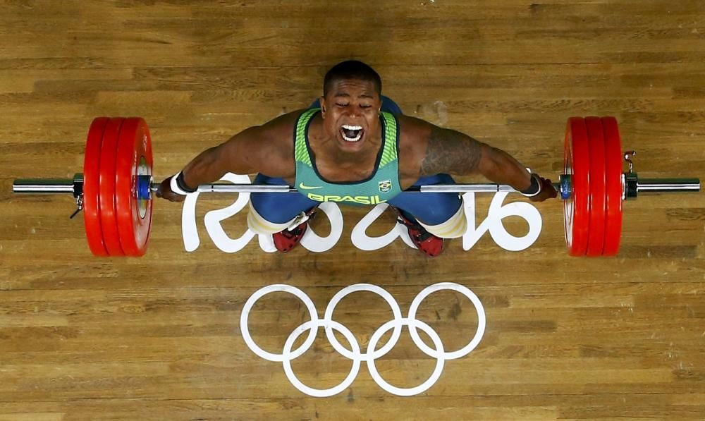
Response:
[[[86,150],[83,156],[83,224],[85,225],[88,247],[95,256],[107,256],[100,226],[100,150],[103,132],[109,118],[94,118],[88,129]]]

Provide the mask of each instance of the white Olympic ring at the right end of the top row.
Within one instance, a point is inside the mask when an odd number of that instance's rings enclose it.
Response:
[[[461,293],[462,295],[465,295],[475,306],[475,311],[477,312],[477,331],[475,332],[475,336],[470,340],[470,343],[460,348],[459,350],[443,354],[443,358],[445,358],[446,360],[455,360],[457,358],[465,357],[465,355],[469,354],[470,352],[472,352],[472,350],[474,350],[474,348],[477,347],[480,341],[482,341],[482,336],[484,335],[484,330],[486,326],[484,307],[482,307],[482,303],[480,302],[480,299],[477,298],[477,295],[470,291],[470,288],[453,282],[439,282],[435,283],[434,285],[428,286],[418,295],[416,295],[416,298],[414,298],[414,300],[412,301],[411,307],[409,307],[409,319],[416,319],[416,312],[419,309],[419,305],[421,305],[421,302],[424,300],[424,298],[437,291],[446,290],[455,291]],[[412,324],[408,324],[407,326],[409,327],[409,333],[411,334],[412,340],[414,341],[416,346],[418,346],[419,349],[422,350],[424,354],[428,355],[431,358],[440,358],[440,355],[437,355],[437,350],[432,350],[431,348],[429,348],[429,346],[426,345],[426,343],[424,343],[424,341],[422,341],[421,337],[419,336],[419,332],[416,330],[415,326],[412,326]]]

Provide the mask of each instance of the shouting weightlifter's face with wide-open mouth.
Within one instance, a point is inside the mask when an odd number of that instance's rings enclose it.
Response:
[[[326,133],[345,151],[364,147],[379,131],[381,99],[374,82],[360,79],[334,80],[321,97],[321,115]]]

